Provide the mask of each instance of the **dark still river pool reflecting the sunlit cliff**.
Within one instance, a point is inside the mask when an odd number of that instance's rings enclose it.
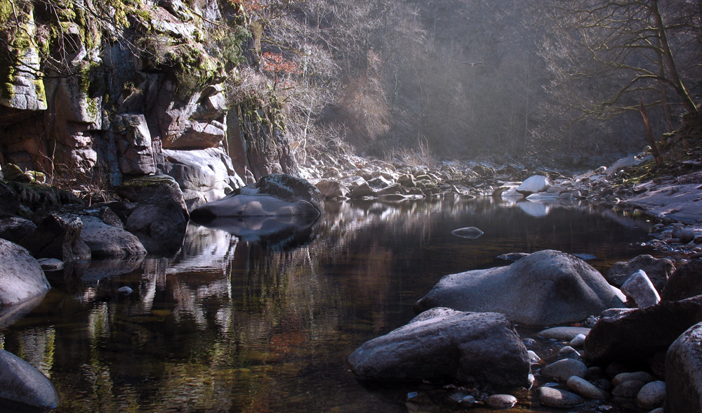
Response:
[[[651,223],[597,206],[327,209],[302,233],[260,239],[191,225],[175,258],[50,274],[43,301],[0,324],[0,344],[51,378],[56,412],[406,412],[417,385],[364,386],[344,360],[406,324],[443,275],[494,266],[507,252],[592,254],[600,270],[651,252],[641,246]],[[484,235],[451,235],[467,226]],[[124,286],[133,293],[117,293]]]

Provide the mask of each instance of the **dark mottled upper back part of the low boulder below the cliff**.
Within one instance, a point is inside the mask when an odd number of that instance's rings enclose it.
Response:
[[[270,195],[288,202],[303,199],[314,205],[319,214],[324,214],[324,196],[316,186],[303,178],[286,173],[271,173],[256,184],[260,195]]]

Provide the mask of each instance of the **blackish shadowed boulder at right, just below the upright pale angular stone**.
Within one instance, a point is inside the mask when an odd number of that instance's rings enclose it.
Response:
[[[677,336],[701,321],[702,296],[607,310],[585,339],[585,356],[597,364],[647,360],[664,353]]]

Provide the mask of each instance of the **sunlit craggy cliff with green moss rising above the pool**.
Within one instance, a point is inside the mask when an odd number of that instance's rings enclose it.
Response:
[[[0,21],[3,166],[99,190],[166,173],[189,209],[296,173],[276,107],[227,96],[256,53],[238,2],[0,0]]]

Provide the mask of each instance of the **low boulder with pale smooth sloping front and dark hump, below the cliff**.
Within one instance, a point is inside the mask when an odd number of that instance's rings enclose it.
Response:
[[[324,214],[324,197],[303,178],[285,174],[268,175],[256,185],[239,188],[215,202],[192,211],[195,221],[215,218],[266,216],[319,216]]]

